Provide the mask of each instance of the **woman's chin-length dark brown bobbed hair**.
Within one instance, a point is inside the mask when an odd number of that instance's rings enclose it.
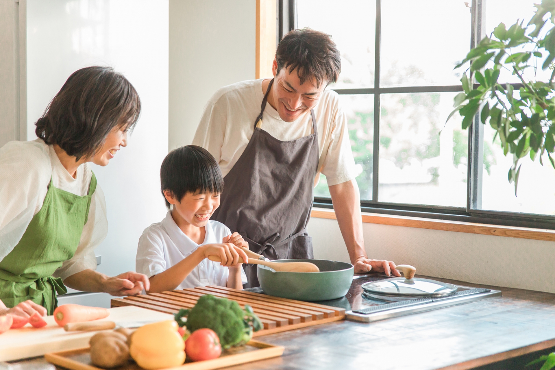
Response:
[[[132,129],[139,114],[139,94],[127,78],[110,67],[87,67],[69,76],[35,133],[79,160],[102,148],[115,126]]]

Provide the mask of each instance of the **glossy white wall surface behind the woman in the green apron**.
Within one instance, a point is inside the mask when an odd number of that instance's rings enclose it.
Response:
[[[79,68],[111,65],[137,89],[143,110],[127,148],[93,168],[109,223],[96,250],[98,271],[134,271],[139,236],[166,212],[159,171],[168,153],[168,0],[29,0],[27,59],[29,140],[34,122]]]

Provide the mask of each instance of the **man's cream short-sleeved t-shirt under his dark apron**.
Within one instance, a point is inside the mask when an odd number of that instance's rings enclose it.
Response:
[[[263,79],[249,80],[223,87],[204,107],[193,144],[202,146],[214,156],[224,176],[243,154],[253,135],[254,120],[260,113],[264,98],[262,82]],[[314,114],[320,150],[319,172],[326,175],[328,185],[354,179],[357,171],[347,132],[347,118],[341,110],[339,95],[332,90],[324,90]],[[281,141],[308,136],[312,133],[310,111],[293,122],[285,122],[268,103],[261,129]],[[315,180],[319,178],[317,174]]]

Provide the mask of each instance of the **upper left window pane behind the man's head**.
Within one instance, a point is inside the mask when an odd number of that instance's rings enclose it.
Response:
[[[374,87],[375,0],[297,0],[297,27],[331,34],[341,52],[334,89]]]

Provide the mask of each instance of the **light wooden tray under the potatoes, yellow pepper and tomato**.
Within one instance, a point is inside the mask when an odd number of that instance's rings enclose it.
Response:
[[[46,361],[62,366],[71,370],[105,370],[90,363],[90,347],[74,349],[44,355]],[[278,357],[284,351],[282,346],[272,346],[258,341],[250,341],[245,346],[224,349],[219,358],[209,359],[199,362],[188,362],[172,370],[210,370],[221,367],[234,366],[241,363],[259,361],[265,358]],[[136,363],[129,361],[129,364],[115,368],[115,370],[142,370]]]

